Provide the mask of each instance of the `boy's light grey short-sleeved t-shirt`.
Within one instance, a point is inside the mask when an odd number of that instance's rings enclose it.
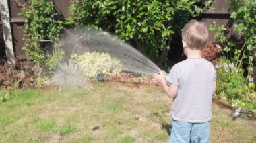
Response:
[[[172,118],[181,122],[203,123],[212,117],[212,91],[216,71],[204,58],[189,58],[175,64],[168,82],[178,87],[172,103]]]

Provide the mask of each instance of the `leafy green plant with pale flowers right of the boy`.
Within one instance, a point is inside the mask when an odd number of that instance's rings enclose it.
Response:
[[[253,79],[250,76],[244,77],[243,69],[223,57],[220,58],[216,68],[217,97],[236,103],[239,107],[256,109],[256,105],[252,104],[256,101]]]

